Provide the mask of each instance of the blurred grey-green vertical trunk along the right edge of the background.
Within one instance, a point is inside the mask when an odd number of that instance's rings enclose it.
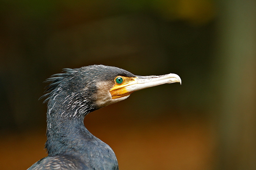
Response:
[[[256,169],[256,1],[219,1],[217,169]]]

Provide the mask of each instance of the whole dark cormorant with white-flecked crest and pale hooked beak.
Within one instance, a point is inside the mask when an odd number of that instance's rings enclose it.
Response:
[[[136,76],[126,70],[104,65],[63,69],[46,79],[48,156],[28,170],[94,169],[118,170],[114,151],[84,126],[84,117],[119,102],[131,93],[165,83],[179,82],[177,74]]]

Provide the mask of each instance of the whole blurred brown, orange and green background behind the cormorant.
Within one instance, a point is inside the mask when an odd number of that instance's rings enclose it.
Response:
[[[256,169],[255,9],[254,0],[1,0],[0,169],[47,156],[42,82],[92,64],[182,79],[86,116],[121,170]]]

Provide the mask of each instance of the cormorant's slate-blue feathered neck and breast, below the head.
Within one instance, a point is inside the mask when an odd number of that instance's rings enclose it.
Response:
[[[83,124],[86,114],[80,114],[80,111],[76,110],[49,101],[45,143],[48,156],[73,155],[86,165],[98,162],[93,169],[118,169],[114,151],[86,129]],[[63,114],[64,111],[66,114]],[[93,109],[87,110],[86,113],[91,111]],[[73,116],[75,113],[80,116]]]

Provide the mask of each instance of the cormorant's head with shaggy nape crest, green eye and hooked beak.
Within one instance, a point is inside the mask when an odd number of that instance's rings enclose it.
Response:
[[[61,100],[62,105],[71,105],[73,109],[87,108],[93,111],[124,100],[137,90],[166,83],[181,84],[177,74],[136,76],[126,70],[103,65],[64,71],[46,80],[51,82],[46,90],[49,93],[42,97],[48,97],[45,100],[48,105],[50,102],[53,105],[54,100]]]

